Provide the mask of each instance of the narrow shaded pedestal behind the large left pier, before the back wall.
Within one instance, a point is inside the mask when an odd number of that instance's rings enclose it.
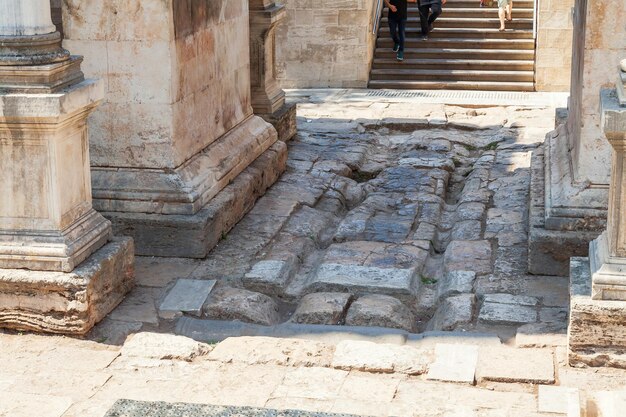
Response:
[[[276,27],[285,7],[270,0],[250,0],[250,87],[254,113],[271,123],[283,142],[297,131],[296,105],[285,103],[276,81]]]

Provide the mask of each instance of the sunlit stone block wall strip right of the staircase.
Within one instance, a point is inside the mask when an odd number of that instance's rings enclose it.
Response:
[[[535,88],[569,91],[574,0],[539,0]]]

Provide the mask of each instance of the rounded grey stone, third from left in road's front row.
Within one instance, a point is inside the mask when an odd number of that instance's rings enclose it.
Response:
[[[346,324],[413,331],[415,318],[398,299],[387,295],[369,294],[352,303],[346,316]]]

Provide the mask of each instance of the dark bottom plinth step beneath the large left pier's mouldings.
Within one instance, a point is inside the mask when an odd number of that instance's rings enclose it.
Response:
[[[138,255],[204,258],[252,209],[287,164],[287,146],[276,141],[192,215],[103,212],[119,235],[132,236]]]

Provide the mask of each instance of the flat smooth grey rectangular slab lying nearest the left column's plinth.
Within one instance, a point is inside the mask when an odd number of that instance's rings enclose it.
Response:
[[[174,318],[181,313],[200,316],[202,306],[217,281],[179,279],[159,307],[159,316]]]

